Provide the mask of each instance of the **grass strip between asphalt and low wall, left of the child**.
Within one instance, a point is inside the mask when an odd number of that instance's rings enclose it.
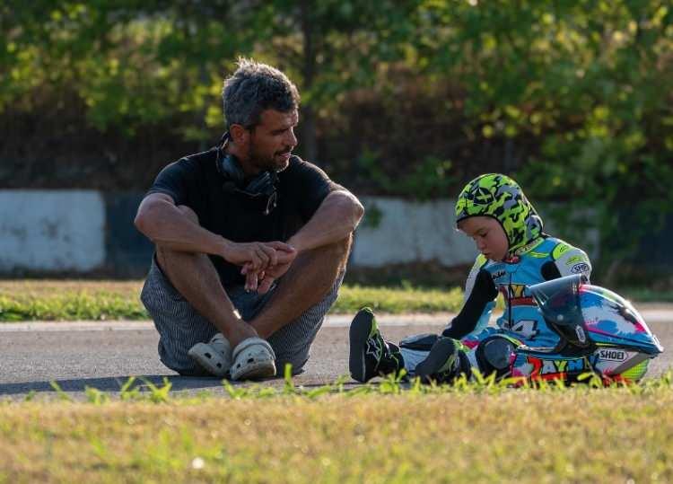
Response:
[[[0,321],[144,320],[142,281],[0,280]],[[342,286],[332,312],[455,312],[462,291]]]

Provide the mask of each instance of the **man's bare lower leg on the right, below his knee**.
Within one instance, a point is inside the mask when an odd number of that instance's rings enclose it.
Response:
[[[345,268],[351,242],[352,236],[348,236],[343,241],[297,256],[269,302],[249,321],[261,338],[268,339],[329,294],[337,276]]]

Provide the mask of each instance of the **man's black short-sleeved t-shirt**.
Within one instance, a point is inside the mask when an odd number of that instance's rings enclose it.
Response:
[[[215,166],[215,150],[192,154],[167,165],[150,193],[165,193],[176,205],[186,205],[206,230],[232,242],[287,241],[318,209],[330,191],[343,189],[316,165],[292,156],[278,173],[277,206],[265,216],[258,200],[223,188],[226,181]],[[223,286],[243,284],[240,267],[210,256]]]

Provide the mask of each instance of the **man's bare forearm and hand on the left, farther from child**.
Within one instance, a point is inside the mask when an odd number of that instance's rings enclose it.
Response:
[[[256,269],[275,266],[282,261],[279,258],[284,258],[284,251],[292,251],[283,242],[228,241],[190,220],[176,207],[173,198],[163,193],[151,193],[143,199],[135,227],[164,249],[214,254],[233,264],[250,263]]]

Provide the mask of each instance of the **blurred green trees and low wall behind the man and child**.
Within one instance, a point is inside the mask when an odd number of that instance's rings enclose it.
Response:
[[[0,30],[2,277],[142,277],[135,209],[219,139],[244,56],[298,85],[296,153],[367,207],[351,282],[462,283],[453,199],[504,172],[595,280],[673,289],[668,2],[5,0]]]

